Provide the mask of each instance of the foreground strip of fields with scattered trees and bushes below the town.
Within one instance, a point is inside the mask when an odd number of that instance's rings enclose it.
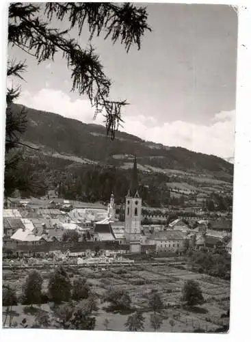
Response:
[[[4,273],[3,280],[8,285],[3,289],[4,326],[214,331],[228,324],[221,316],[229,308],[229,285],[210,285],[198,274],[168,265],[97,272],[74,267],[16,270]]]

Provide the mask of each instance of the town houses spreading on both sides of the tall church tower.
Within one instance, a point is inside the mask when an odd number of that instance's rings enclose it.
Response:
[[[62,237],[66,231],[77,231],[79,248],[85,242],[111,242],[119,246],[125,245],[124,222],[114,222],[102,209],[73,209],[70,213],[62,213],[57,209],[38,209],[38,218],[27,218],[29,212],[17,209],[3,210],[3,248],[30,250],[47,246],[49,250],[60,248]],[[102,219],[102,220],[100,220]],[[226,239],[228,238],[228,239]],[[219,242],[230,250],[230,233],[212,228],[207,221],[198,222],[191,229],[181,219],[170,222],[168,228],[161,225],[142,226],[141,244],[144,251],[182,252],[187,248],[216,248]],[[111,246],[111,245],[110,245]],[[114,247],[112,247],[114,248]]]

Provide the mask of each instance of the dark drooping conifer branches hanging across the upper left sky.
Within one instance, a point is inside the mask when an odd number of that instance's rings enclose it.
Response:
[[[46,20],[42,20],[42,14]],[[72,71],[72,91],[87,94],[95,107],[95,116],[105,115],[107,133],[118,129],[121,108],[126,101],[111,101],[111,80],[103,72],[99,56],[93,47],[81,48],[77,40],[69,38],[73,27],[81,36],[84,25],[88,26],[91,41],[94,36],[105,34],[115,43],[120,40],[127,52],[134,44],[141,47],[147,24],[145,8],[133,3],[11,3],[9,7],[8,43],[33,55],[38,63],[53,61],[61,53]],[[55,21],[69,23],[68,29],[60,31],[51,27]],[[23,64],[21,64],[23,66]]]

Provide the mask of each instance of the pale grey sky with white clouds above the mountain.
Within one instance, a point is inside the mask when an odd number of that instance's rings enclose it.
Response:
[[[112,80],[111,98],[130,103],[122,111],[120,130],[167,146],[233,157],[236,12],[227,5],[146,5],[153,31],[145,34],[140,51],[127,53],[120,42],[103,38],[92,42]],[[82,47],[87,37],[83,31]],[[28,66],[19,103],[93,123],[88,98],[70,92],[70,71],[61,55],[40,66],[18,48],[9,47],[8,57],[26,60]],[[102,122],[102,116],[94,121]]]

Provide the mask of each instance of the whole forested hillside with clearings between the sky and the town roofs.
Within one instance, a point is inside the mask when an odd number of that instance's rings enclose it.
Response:
[[[18,113],[20,107],[13,105],[12,109]],[[222,182],[231,187],[233,181],[233,165],[219,157],[145,142],[119,131],[111,141],[101,125],[35,109],[27,108],[22,141],[38,148],[24,148],[23,162],[16,170],[25,174],[31,185],[22,189],[23,196],[43,196],[56,189],[64,198],[94,202],[107,200],[114,192],[117,202],[123,202],[133,155],[137,155],[140,191],[146,205],[182,205],[183,196],[172,193],[177,182],[198,193],[202,184],[212,187]]]

